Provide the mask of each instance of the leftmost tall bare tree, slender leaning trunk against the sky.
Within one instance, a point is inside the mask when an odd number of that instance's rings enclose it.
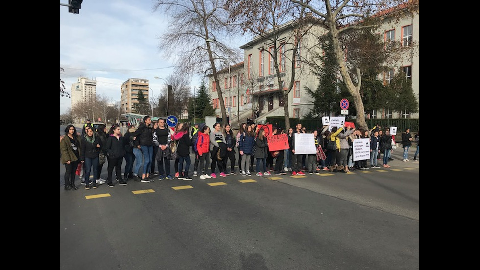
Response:
[[[223,1],[154,0],[153,9],[162,9],[172,18],[167,32],[160,37],[159,49],[175,59],[177,74],[213,74],[225,125],[227,114],[216,66],[238,62],[241,53],[227,45],[235,25],[227,23]]]

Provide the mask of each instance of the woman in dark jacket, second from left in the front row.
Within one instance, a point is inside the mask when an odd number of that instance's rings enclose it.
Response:
[[[94,128],[86,128],[85,137],[82,137],[82,148],[80,149],[80,162],[84,163],[85,179],[90,179],[90,171],[93,171],[93,181],[86,182],[85,189],[96,189],[96,177],[98,175],[98,156],[101,151],[102,142],[98,136],[95,136]]]

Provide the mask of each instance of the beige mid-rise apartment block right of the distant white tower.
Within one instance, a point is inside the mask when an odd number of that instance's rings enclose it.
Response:
[[[148,80],[145,79],[128,79],[121,84],[121,112],[137,113],[135,104],[138,103],[138,94],[142,91],[144,98],[150,98],[150,87]]]

